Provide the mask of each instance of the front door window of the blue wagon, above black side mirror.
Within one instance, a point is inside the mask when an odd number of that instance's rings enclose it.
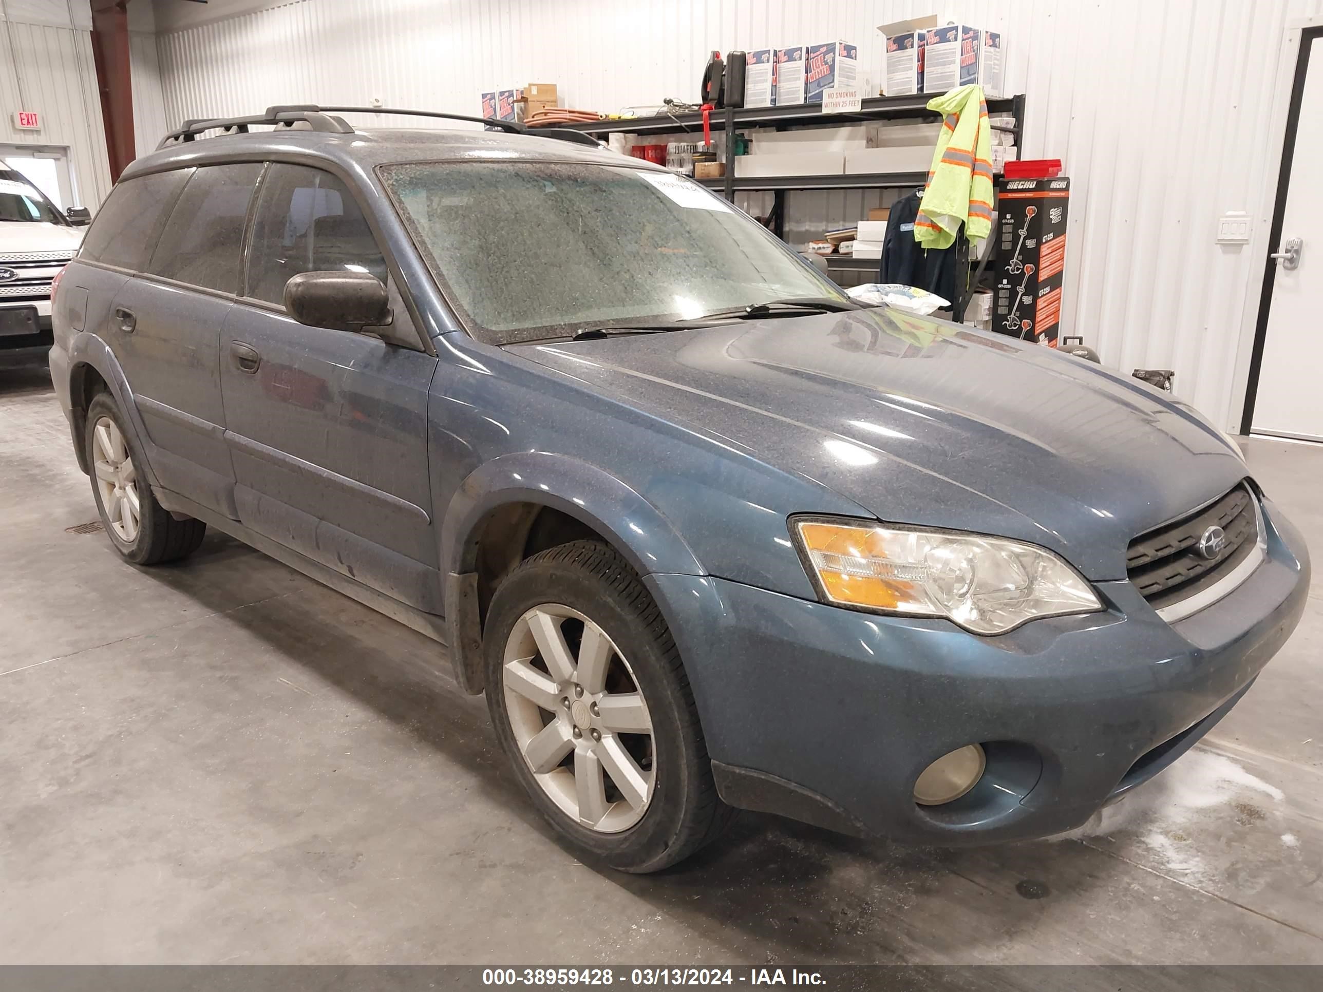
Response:
[[[292,276],[323,271],[386,280],[385,259],[344,183],[307,165],[273,164],[253,222],[247,295],[283,303]]]

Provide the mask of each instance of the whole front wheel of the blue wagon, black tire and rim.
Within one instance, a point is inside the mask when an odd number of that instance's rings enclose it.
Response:
[[[733,811],[712,780],[680,652],[614,549],[573,541],[520,563],[492,597],[483,651],[501,747],[582,860],[658,872],[725,829]],[[644,723],[648,733],[636,733]],[[581,782],[601,782],[602,794]]]

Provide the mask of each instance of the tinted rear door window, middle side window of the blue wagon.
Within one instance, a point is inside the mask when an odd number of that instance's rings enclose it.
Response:
[[[243,222],[262,163],[204,165],[184,186],[147,271],[238,292]]]

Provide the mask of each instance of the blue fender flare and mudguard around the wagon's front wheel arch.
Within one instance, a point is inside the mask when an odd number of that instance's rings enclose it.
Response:
[[[640,575],[706,575],[697,556],[663,513],[630,485],[581,459],[521,451],[474,470],[442,515],[446,628],[455,679],[483,690],[478,534],[497,508],[531,503],[561,511],[602,534]]]

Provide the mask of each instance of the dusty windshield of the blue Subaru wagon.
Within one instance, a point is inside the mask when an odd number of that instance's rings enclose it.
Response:
[[[463,161],[381,175],[433,274],[490,344],[767,300],[848,303],[758,224],[667,172]]]

